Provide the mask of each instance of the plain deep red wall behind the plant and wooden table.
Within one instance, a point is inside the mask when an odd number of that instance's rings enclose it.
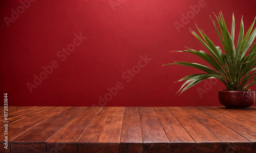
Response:
[[[174,82],[200,71],[161,65],[205,64],[169,51],[206,51],[189,33],[194,23],[220,45],[212,12],[222,10],[230,29],[234,12],[237,30],[242,15],[248,29],[256,14],[255,0],[0,3],[1,95],[9,106],[219,106],[220,82],[178,96],[182,83]]]

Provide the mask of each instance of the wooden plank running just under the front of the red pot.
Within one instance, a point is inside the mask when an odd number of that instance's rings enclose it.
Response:
[[[250,113],[247,110],[239,110],[239,109],[226,109],[224,107],[211,107],[216,109],[224,114],[242,120],[248,124],[256,125],[256,114]],[[256,112],[256,110],[255,110]]]

